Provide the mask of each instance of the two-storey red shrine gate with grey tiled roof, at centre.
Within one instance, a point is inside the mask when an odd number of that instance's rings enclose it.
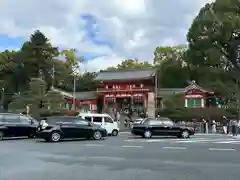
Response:
[[[132,112],[136,116],[148,112],[149,93],[154,89],[154,75],[153,69],[101,71],[96,80],[102,84],[97,92],[103,98],[103,111]]]

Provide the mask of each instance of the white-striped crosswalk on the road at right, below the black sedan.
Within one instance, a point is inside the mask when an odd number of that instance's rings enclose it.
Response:
[[[191,138],[191,139],[126,139],[125,142],[132,143],[212,143],[212,144],[240,144],[240,139],[233,138]]]

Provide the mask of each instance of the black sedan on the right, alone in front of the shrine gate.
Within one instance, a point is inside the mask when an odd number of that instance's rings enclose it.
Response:
[[[144,138],[151,138],[155,135],[189,138],[191,135],[194,135],[194,128],[178,126],[166,117],[147,118],[141,121],[140,124],[135,124],[132,127],[131,133]]]

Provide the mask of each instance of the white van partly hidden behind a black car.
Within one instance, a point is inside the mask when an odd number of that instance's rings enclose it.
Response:
[[[114,121],[112,117],[108,114],[80,113],[78,116],[89,122],[92,122],[93,124],[101,125],[102,128],[107,130],[109,135],[118,135],[118,122]]]

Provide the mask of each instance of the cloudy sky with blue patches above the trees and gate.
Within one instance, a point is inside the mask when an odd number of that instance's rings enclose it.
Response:
[[[137,58],[153,61],[157,46],[186,43],[199,10],[212,0],[1,0],[0,51],[19,49],[39,29],[98,71]]]

